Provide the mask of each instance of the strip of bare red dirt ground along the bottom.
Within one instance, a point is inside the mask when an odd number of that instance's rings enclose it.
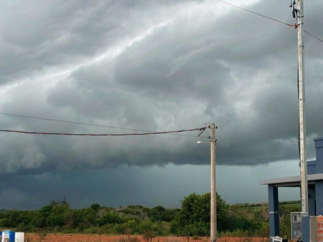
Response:
[[[140,242],[144,242],[140,235]],[[99,234],[47,234],[42,237],[39,234],[25,233],[25,242],[117,242],[120,238],[127,238],[127,235],[99,235]],[[209,242],[209,238],[193,239],[192,237],[154,237],[152,242]],[[268,242],[268,238],[239,238],[221,237],[217,242]]]

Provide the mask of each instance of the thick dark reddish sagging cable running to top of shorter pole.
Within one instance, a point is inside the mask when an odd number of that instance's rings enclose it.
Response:
[[[0,132],[21,133],[21,134],[34,134],[34,135],[65,135],[65,136],[138,136],[138,135],[160,135],[160,134],[174,134],[182,132],[201,131],[204,128],[196,128],[191,130],[177,130],[165,132],[149,132],[149,133],[133,133],[133,134],[72,134],[72,133],[48,133],[48,132],[27,132],[20,130],[0,130]]]

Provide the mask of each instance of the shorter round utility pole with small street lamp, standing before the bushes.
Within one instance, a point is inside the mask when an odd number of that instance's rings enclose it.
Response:
[[[217,188],[216,188],[216,125],[210,124],[211,129],[211,236],[210,242],[217,240]]]

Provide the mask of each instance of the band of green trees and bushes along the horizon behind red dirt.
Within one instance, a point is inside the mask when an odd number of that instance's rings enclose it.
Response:
[[[281,235],[290,235],[290,212],[295,207],[280,207]],[[227,204],[217,195],[219,235],[269,236],[268,206],[245,207]],[[37,211],[0,212],[0,227],[24,232],[97,234],[144,234],[145,236],[209,236],[210,194],[191,194],[181,209],[140,205],[112,208],[93,204],[72,209],[66,199],[51,200]]]

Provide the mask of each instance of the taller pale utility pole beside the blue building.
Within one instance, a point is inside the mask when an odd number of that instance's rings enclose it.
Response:
[[[302,214],[308,216],[308,187],[306,160],[306,123],[305,123],[305,76],[304,76],[304,30],[303,0],[297,0],[298,30],[298,97],[299,97],[299,150],[301,166],[301,201]]]

